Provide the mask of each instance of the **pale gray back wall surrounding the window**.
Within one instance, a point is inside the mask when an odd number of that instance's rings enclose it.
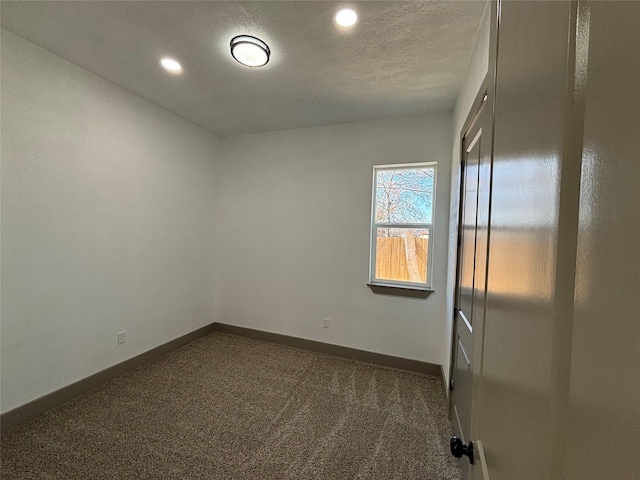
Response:
[[[450,138],[443,113],[224,139],[217,320],[441,364]],[[425,161],[438,162],[435,293],[374,294],[373,165]]]

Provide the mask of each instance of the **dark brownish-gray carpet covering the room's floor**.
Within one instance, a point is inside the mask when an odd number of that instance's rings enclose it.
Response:
[[[16,427],[3,479],[458,479],[436,377],[212,333]]]

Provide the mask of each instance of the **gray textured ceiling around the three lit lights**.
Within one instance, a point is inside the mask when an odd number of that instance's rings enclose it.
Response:
[[[221,136],[453,108],[485,1],[2,1],[2,26]],[[249,69],[230,39],[272,51]],[[158,61],[173,56],[181,75]]]

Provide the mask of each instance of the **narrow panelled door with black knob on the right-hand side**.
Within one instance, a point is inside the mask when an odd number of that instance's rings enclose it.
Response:
[[[491,108],[486,86],[471,126],[462,139],[459,245],[454,318],[450,415],[455,434],[473,441],[474,377],[482,358],[491,188]],[[477,455],[474,454],[477,458]],[[473,474],[469,459],[460,459],[465,479]]]

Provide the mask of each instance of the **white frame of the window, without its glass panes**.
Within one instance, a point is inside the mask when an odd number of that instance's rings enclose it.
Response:
[[[433,196],[431,198],[431,223],[386,223],[376,222],[376,191],[378,189],[377,172],[381,170],[409,170],[429,167],[433,168]],[[433,279],[433,245],[434,245],[434,223],[436,212],[436,180],[438,176],[437,162],[420,163],[396,163],[390,165],[373,166],[373,183],[371,191],[371,236],[369,243],[369,285],[382,287],[398,287],[412,290],[432,289]],[[376,278],[376,252],[377,252],[377,230],[378,228],[424,228],[429,231],[429,251],[427,252],[427,278],[425,282],[405,282],[398,280],[387,280]]]

